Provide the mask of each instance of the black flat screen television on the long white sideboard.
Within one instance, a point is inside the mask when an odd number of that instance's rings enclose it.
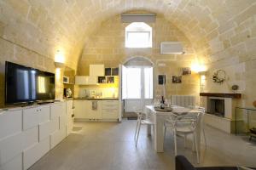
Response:
[[[5,62],[5,104],[54,99],[54,73]]]

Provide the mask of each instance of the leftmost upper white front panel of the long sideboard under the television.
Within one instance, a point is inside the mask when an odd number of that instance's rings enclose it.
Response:
[[[0,139],[22,131],[22,111],[4,111],[0,115]]]

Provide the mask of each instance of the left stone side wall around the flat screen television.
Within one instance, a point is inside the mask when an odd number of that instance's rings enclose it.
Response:
[[[62,71],[55,71],[53,59],[0,37],[0,108],[4,107],[5,61],[30,66],[42,71],[54,72],[56,76],[55,97],[62,98],[63,83],[60,81]]]

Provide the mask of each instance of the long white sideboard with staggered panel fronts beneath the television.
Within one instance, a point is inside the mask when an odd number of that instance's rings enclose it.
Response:
[[[59,144],[67,134],[66,105],[0,111],[0,169],[26,170]]]

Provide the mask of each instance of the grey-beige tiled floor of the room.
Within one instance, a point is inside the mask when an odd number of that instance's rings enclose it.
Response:
[[[147,137],[143,127],[137,148],[133,134],[136,121],[77,122],[74,131],[54,150],[39,160],[31,169],[94,170],[94,169],[174,169],[174,152],[171,133],[167,133],[165,152],[156,153],[153,139]],[[247,137],[222,133],[206,128],[207,150],[201,145],[201,164],[197,165],[195,153],[183,148],[183,138],[178,137],[177,152],[189,158],[196,166],[256,167],[256,142]],[[203,142],[202,142],[203,143]]]

